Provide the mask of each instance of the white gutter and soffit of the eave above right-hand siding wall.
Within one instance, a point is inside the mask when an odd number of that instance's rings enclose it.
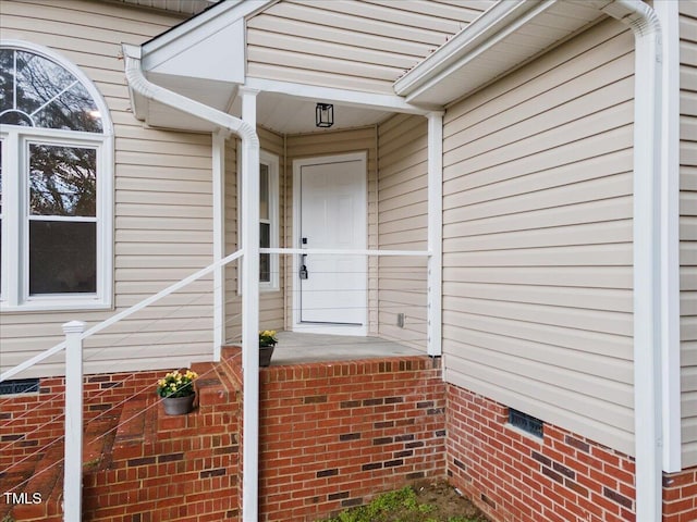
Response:
[[[604,14],[591,3],[501,0],[394,83],[409,103],[447,104]]]

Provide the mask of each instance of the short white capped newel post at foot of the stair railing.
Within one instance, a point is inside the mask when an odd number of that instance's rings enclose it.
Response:
[[[83,340],[85,323],[63,324],[65,334],[65,455],[63,520],[80,522],[83,509]]]

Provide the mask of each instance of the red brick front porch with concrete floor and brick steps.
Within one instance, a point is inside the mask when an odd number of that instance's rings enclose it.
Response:
[[[377,337],[290,332],[278,352],[259,372],[260,520],[315,521],[444,478],[438,360]],[[242,520],[242,351],[224,348],[219,363],[193,369],[199,405],[178,417],[155,395],[157,372],[85,376],[81,520]],[[3,430],[0,485],[19,504],[0,506],[0,519],[62,521],[63,443],[46,435],[61,433],[63,419],[46,425],[41,415],[63,407],[63,378],[42,380],[40,391],[4,403],[16,420]],[[40,502],[22,504],[24,493]]]

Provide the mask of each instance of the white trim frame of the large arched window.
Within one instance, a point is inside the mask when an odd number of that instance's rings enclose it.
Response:
[[[113,125],[103,97],[74,64],[50,49],[19,40],[0,40],[0,47],[33,52],[58,63],[87,89],[101,113],[103,133],[83,133],[41,127],[0,125],[2,154],[2,276],[0,311],[102,310],[113,301]],[[97,149],[97,291],[94,294],[28,295],[28,209],[24,176],[28,142],[95,147]],[[21,176],[9,173],[21,172]]]

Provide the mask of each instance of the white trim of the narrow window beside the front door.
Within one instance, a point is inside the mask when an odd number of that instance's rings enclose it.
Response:
[[[237,161],[237,202],[242,198],[242,172],[241,163]],[[259,163],[269,167],[269,220],[271,222],[270,234],[270,247],[279,248],[279,235],[281,231],[280,224],[280,185],[279,185],[279,170],[280,160],[279,157],[268,152],[266,150],[259,151]],[[237,204],[237,238],[240,244],[242,243],[242,206]],[[259,282],[259,291],[271,293],[280,291],[281,278],[280,278],[280,260],[278,253],[271,254],[271,281]],[[237,264],[237,295],[242,295],[242,265]]]

